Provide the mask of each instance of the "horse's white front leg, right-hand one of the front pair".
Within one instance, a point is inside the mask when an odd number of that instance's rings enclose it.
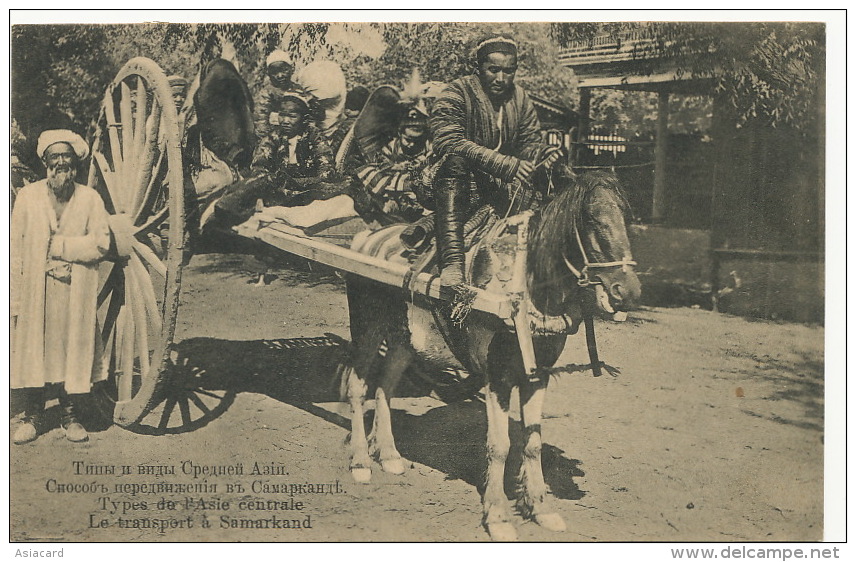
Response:
[[[523,462],[518,481],[520,496],[517,507],[520,512],[551,531],[564,531],[562,516],[550,509],[547,501],[547,485],[541,466],[541,417],[544,396],[547,393],[547,375],[529,379],[520,384],[520,414],[523,421]]]

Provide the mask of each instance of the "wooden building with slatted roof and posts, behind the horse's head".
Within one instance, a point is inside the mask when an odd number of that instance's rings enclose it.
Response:
[[[702,209],[707,220],[696,226],[710,233],[714,296],[727,278],[720,271],[751,270],[764,278],[764,288],[747,305],[749,313],[822,320],[822,113],[818,130],[808,133],[787,126],[738,125],[728,103],[717,97],[715,80],[684,72],[678,58],[660,54],[661,45],[642,24],[620,36],[604,34],[571,44],[561,53],[560,62],[579,80],[577,142],[585,143],[596,125],[590,118],[594,89],[656,93],[653,189],[646,195],[650,223],[685,226],[682,213]],[[710,150],[684,150],[684,172],[674,166],[670,170],[669,164],[675,152],[686,149],[669,131],[669,104],[675,95],[710,96],[714,108]],[[823,99],[823,92],[817,95]],[[706,193],[697,189],[700,184]]]

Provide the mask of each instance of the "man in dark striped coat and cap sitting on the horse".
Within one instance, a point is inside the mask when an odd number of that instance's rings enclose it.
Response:
[[[433,191],[440,280],[447,286],[464,280],[463,225],[469,214],[485,203],[506,212],[514,194],[528,189],[536,165],[549,168],[561,156],[541,141],[535,108],[514,84],[517,43],[489,37],[474,54],[475,74],[449,84],[430,120],[439,156]]]

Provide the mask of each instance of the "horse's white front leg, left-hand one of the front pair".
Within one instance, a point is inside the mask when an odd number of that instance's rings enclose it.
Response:
[[[508,403],[510,390],[504,385],[488,382],[485,388],[487,409],[487,472],[485,478],[484,525],[495,541],[517,540],[517,530],[511,523],[511,512],[505,497],[505,461],[508,459]]]

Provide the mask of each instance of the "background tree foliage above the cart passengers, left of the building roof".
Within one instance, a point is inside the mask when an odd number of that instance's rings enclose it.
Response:
[[[195,76],[202,64],[234,49],[250,88],[264,81],[264,59],[286,50],[298,66],[339,62],[351,84],[400,85],[413,68],[423,79],[449,81],[472,71],[470,49],[489,32],[521,43],[518,80],[534,93],[570,104],[573,75],[557,62],[549,24],[501,23],[233,23],[17,25],[12,28],[12,116],[28,138],[34,129],[72,126],[85,133],[104,91],[136,56],[167,74]],[[36,133],[37,134],[37,133]]]

